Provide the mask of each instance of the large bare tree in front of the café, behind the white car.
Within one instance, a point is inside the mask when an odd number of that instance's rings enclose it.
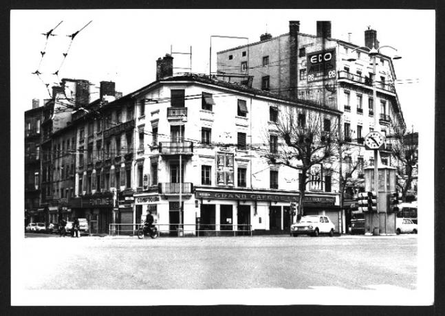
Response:
[[[329,120],[329,124],[325,120]],[[332,124],[331,122],[334,121]],[[268,132],[270,150],[264,155],[270,163],[301,170],[299,179],[298,215],[303,216],[303,200],[308,183],[320,177],[310,177],[312,166],[335,156],[332,135],[336,133],[338,117],[318,111],[287,108]]]

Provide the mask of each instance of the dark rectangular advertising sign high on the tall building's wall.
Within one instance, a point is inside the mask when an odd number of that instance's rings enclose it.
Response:
[[[307,55],[307,82],[333,80],[336,78],[335,49]]]

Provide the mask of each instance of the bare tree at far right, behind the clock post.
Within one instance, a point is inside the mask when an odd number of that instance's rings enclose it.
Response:
[[[398,133],[395,134],[393,141],[391,142],[392,150],[391,155],[398,159],[402,163],[401,168],[398,168],[399,175],[398,187],[402,192],[402,201],[406,202],[406,193],[411,190],[411,185],[417,174],[415,168],[419,161],[418,157],[418,133],[411,131],[411,133]]]

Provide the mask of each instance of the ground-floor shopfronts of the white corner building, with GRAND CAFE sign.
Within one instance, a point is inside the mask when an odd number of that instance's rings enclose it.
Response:
[[[158,192],[134,194],[133,223],[144,221],[150,211],[161,234],[287,234],[296,219],[290,203],[298,205],[299,193],[196,188],[193,194],[182,196],[181,212],[179,198]],[[304,203],[305,214],[329,216],[336,232],[341,232],[344,218],[338,206],[338,194],[307,192]]]

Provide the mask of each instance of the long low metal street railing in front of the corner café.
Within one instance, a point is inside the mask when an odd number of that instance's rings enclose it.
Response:
[[[135,236],[143,224],[109,224],[109,236]],[[159,236],[252,236],[249,224],[153,224]],[[185,227],[185,228],[184,228]],[[219,227],[219,229],[217,229]]]

